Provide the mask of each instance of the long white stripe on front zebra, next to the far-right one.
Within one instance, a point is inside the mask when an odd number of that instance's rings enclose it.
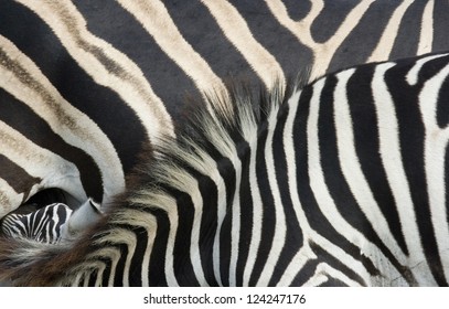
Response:
[[[419,283],[419,280],[424,279],[423,274],[431,273],[424,256],[417,217],[413,207],[414,203],[410,188],[404,170],[396,110],[384,81],[385,72],[393,66],[394,64],[392,63],[378,65],[374,72],[371,87],[373,89],[374,105],[378,121],[379,152],[399,214],[403,235],[409,252],[408,265],[420,264],[420,274],[415,275],[418,284],[426,285],[431,281],[432,278],[427,278],[425,283]],[[411,271],[414,271],[414,268],[411,268]],[[436,285],[436,283],[434,281],[432,285]]]

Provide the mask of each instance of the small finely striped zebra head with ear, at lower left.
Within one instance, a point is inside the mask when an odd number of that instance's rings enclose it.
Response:
[[[7,237],[57,244],[76,238],[100,219],[100,205],[88,199],[75,211],[64,203],[53,203],[28,213],[10,213],[0,221],[0,231]]]

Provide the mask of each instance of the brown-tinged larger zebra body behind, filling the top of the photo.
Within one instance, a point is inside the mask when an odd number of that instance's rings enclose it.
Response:
[[[183,131],[183,118],[199,108],[184,96],[227,92],[228,76],[271,88],[298,71],[313,79],[448,50],[448,7],[1,1],[0,217],[49,188],[63,190],[71,207],[88,196],[108,204],[126,189],[143,145]]]

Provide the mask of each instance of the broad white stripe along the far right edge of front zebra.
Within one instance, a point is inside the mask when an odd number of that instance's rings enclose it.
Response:
[[[431,222],[435,228],[438,253],[441,257],[442,271],[447,281],[449,281],[449,226],[447,222],[447,179],[445,172],[447,170],[446,154],[449,142],[449,127],[439,127],[437,120],[437,105],[439,99],[446,99],[439,97],[439,90],[441,84],[447,82],[448,76],[449,65],[428,79],[419,94],[419,107],[426,128],[425,169]]]

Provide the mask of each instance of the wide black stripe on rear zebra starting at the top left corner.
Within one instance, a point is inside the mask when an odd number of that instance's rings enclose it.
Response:
[[[66,100],[101,128],[116,146],[128,172],[146,139],[135,113],[111,89],[96,84],[70,56],[53,31],[26,8],[2,1],[0,33],[33,60]]]

